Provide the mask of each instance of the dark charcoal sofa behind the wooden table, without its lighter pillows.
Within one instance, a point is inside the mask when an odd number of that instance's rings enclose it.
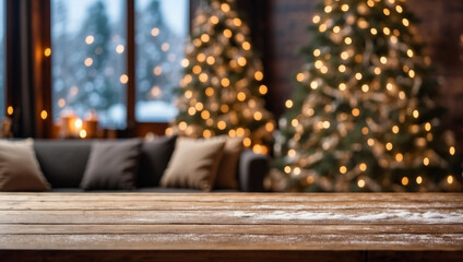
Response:
[[[138,140],[135,187],[83,188],[83,177],[88,169],[91,153],[95,157],[95,143],[120,144],[120,141],[98,140],[34,140],[33,148],[40,170],[49,183],[50,192],[262,192],[263,180],[269,171],[269,157],[254,154],[251,150],[240,150],[236,162],[237,187],[212,187],[209,190],[189,187],[162,187],[165,170],[178,143],[176,136],[162,136],[154,141]],[[178,142],[178,141],[177,141]],[[110,150],[106,150],[110,151]],[[127,152],[127,150],[124,151]],[[98,154],[105,155],[105,148]],[[224,156],[225,157],[225,156]],[[109,159],[110,160],[110,159]],[[187,159],[186,159],[187,160]],[[115,164],[117,165],[117,163]],[[107,166],[110,169],[110,166]],[[185,167],[183,167],[185,168]],[[191,176],[191,174],[185,174]],[[193,174],[194,175],[194,174]],[[217,174],[221,176],[221,174]]]

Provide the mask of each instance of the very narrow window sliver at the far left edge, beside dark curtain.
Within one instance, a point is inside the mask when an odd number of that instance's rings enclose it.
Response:
[[[0,119],[4,114],[5,102],[5,0],[0,0]]]

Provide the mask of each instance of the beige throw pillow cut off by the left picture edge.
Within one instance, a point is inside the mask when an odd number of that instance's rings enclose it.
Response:
[[[47,191],[34,141],[0,141],[0,191]]]

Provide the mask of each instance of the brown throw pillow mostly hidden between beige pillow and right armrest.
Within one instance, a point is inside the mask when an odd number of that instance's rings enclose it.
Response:
[[[219,189],[238,189],[238,179],[236,176],[239,155],[241,154],[242,138],[227,138],[218,167],[215,188]]]

